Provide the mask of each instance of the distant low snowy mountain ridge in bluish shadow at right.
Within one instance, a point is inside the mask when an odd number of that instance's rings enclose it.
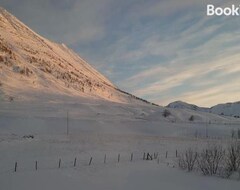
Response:
[[[176,101],[168,104],[168,108],[177,108],[177,109],[190,109],[200,112],[209,112],[218,115],[233,116],[236,118],[240,117],[240,102],[218,104],[211,108],[198,107],[194,104],[188,104],[182,101]]]

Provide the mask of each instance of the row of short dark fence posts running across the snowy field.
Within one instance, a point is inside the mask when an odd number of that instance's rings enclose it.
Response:
[[[178,150],[175,151],[161,151],[161,152],[132,152],[132,153],[118,153],[115,155],[103,154],[102,156],[89,156],[87,159],[81,159],[81,157],[72,157],[64,159],[64,157],[59,157],[55,161],[51,160],[49,163],[46,161],[32,160],[32,161],[16,161],[12,163],[12,167],[5,171],[0,171],[1,174],[4,173],[17,173],[17,172],[29,172],[38,170],[60,170],[67,168],[79,168],[79,167],[89,167],[98,165],[109,165],[109,164],[119,164],[119,163],[136,163],[140,161],[155,161],[157,164],[165,163],[167,165],[175,163],[178,158]]]

